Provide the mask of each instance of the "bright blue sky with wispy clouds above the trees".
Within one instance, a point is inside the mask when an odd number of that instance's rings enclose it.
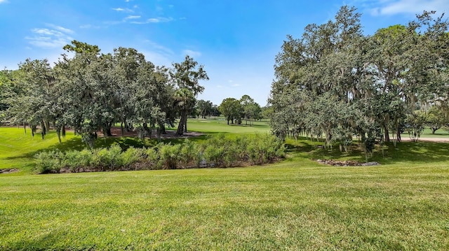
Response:
[[[199,99],[220,104],[243,94],[267,103],[274,57],[287,34],[356,6],[366,34],[407,24],[422,10],[449,12],[448,0],[0,0],[0,68],[25,59],[58,61],[73,39],[102,52],[132,47],[156,65],[190,55],[210,78]]]

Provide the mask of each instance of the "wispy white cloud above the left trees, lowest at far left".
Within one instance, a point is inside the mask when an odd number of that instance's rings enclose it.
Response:
[[[65,27],[60,27],[54,24],[46,24],[47,28],[34,28],[32,29],[32,35],[26,36],[25,39],[29,41],[31,45],[40,48],[62,48],[67,43],[73,40],[69,34],[74,34],[74,31]]]

